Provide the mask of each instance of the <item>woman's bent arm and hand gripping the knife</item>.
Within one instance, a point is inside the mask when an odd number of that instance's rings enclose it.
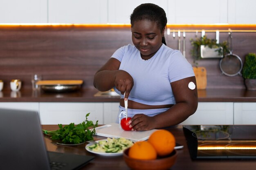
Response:
[[[93,85],[99,91],[108,91],[114,86],[117,90],[124,93],[126,91],[127,98],[133,87],[133,78],[126,71],[119,70],[121,62],[115,58],[110,58],[105,65],[94,75]]]

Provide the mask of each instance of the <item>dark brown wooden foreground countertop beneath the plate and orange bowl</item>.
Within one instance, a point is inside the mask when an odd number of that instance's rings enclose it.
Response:
[[[57,125],[43,125],[45,130],[56,130]],[[196,160],[192,161],[189,155],[189,150],[186,145],[186,139],[183,134],[182,126],[167,129],[173,133],[176,142],[183,145],[184,148],[177,150],[177,160],[172,170],[254,170],[256,166],[255,160]],[[104,137],[95,136],[95,140],[106,139]],[[47,150],[54,152],[66,152],[79,155],[91,155],[95,159],[85,165],[84,170],[130,170],[126,165],[122,156],[103,157],[92,154],[85,150],[86,144],[79,146],[61,146],[52,141],[49,136],[45,135]]]

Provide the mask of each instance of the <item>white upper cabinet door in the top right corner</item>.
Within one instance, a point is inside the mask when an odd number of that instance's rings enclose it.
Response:
[[[255,0],[228,0],[229,24],[256,24]]]

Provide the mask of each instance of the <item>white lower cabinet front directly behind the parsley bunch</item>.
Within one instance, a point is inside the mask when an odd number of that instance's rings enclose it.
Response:
[[[88,120],[103,124],[103,103],[40,102],[41,124],[79,124]]]

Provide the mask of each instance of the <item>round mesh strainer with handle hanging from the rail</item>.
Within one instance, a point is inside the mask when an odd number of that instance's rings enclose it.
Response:
[[[229,31],[228,47],[229,47],[229,54],[226,54],[220,60],[220,70],[223,74],[227,76],[242,75],[241,71],[243,68],[243,62],[238,55],[232,53],[233,40],[232,40],[231,31]]]

